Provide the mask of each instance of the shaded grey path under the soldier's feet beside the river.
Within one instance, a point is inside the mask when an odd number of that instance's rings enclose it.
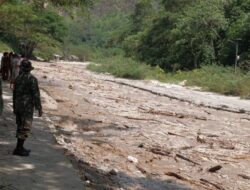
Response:
[[[12,155],[16,145],[11,92],[4,84],[5,110],[0,117],[1,190],[81,190],[84,185],[63,150],[50,134],[47,122],[35,118],[33,134],[26,142],[29,157]]]

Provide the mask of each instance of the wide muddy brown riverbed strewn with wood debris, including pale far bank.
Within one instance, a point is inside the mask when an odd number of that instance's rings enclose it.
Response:
[[[84,64],[35,66],[54,135],[87,189],[250,189],[249,101]]]

